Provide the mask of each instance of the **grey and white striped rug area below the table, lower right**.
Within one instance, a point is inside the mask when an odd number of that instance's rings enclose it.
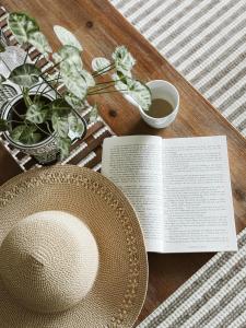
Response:
[[[246,229],[237,253],[215,255],[138,327],[245,328]]]

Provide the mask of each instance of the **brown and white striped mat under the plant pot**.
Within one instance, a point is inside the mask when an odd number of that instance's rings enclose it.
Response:
[[[4,8],[0,8],[0,28],[8,39],[8,44],[10,46],[19,46],[16,39],[13,37],[11,32],[7,26],[7,15],[8,12]],[[26,50],[26,49],[25,49]],[[44,56],[34,48],[28,48],[30,59],[32,61],[36,61],[38,56],[37,66],[42,69],[42,71],[48,71],[49,73],[54,73],[55,69],[52,68],[52,63],[47,61]],[[63,85],[57,85],[57,90],[62,92]],[[5,90],[8,92],[8,89]],[[1,95],[0,95],[1,103]],[[87,118],[89,112],[83,114],[83,117]],[[113,131],[103,121],[101,117],[97,118],[97,121],[87,126],[87,133],[83,140],[75,141],[71,147],[70,155],[61,162],[61,164],[74,164],[79,166],[90,167],[94,171],[101,169],[101,160],[102,160],[102,143],[104,138],[113,136]],[[40,165],[36,163],[34,159],[30,155],[26,155],[15,148],[13,148],[7,140],[4,140],[3,134],[0,136],[0,141],[3,143],[4,148],[8,152],[11,153],[13,159],[20,165],[23,171],[27,171],[33,167],[39,167]]]

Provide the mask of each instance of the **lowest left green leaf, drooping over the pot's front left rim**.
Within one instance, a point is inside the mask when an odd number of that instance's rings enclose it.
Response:
[[[24,144],[34,144],[42,140],[42,134],[37,132],[35,126],[17,126],[11,132],[10,137]]]

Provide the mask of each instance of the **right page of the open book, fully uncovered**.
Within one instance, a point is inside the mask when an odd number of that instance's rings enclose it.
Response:
[[[236,250],[225,137],[163,140],[164,251]]]

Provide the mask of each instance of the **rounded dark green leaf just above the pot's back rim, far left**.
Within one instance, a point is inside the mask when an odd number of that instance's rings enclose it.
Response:
[[[42,71],[33,63],[24,63],[16,67],[9,77],[9,80],[24,87],[31,87],[38,82]]]

